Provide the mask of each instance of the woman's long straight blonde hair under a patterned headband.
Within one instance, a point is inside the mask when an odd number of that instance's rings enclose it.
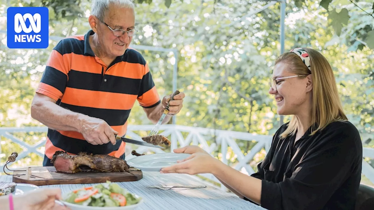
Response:
[[[288,71],[294,74],[312,74],[312,120],[309,126],[312,126],[310,135],[314,135],[328,124],[347,120],[347,117],[341,105],[334,73],[329,62],[318,51],[309,48],[303,49],[309,54],[311,71],[293,52],[283,53],[275,64],[280,62],[288,64],[290,66]],[[287,129],[281,133],[280,137],[286,138],[290,134],[295,135],[296,129],[297,118],[292,116]]]

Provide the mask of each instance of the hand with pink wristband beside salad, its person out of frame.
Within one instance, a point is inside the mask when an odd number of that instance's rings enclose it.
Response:
[[[39,188],[23,195],[13,196],[15,210],[68,210],[55,203],[61,199],[59,188]]]

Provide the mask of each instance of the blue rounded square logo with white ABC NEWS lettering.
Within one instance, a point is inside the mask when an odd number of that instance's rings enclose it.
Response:
[[[9,7],[7,46],[13,49],[47,48],[49,44],[47,7]]]

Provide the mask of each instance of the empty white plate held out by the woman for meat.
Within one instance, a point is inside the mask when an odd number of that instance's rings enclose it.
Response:
[[[174,165],[177,160],[183,160],[189,156],[190,154],[185,153],[156,153],[131,158],[127,164],[142,171],[159,172],[163,167]]]

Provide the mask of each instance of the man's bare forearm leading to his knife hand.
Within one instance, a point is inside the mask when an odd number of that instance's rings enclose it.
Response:
[[[83,114],[62,108],[50,101],[36,102],[31,106],[31,117],[54,130],[79,132]]]

